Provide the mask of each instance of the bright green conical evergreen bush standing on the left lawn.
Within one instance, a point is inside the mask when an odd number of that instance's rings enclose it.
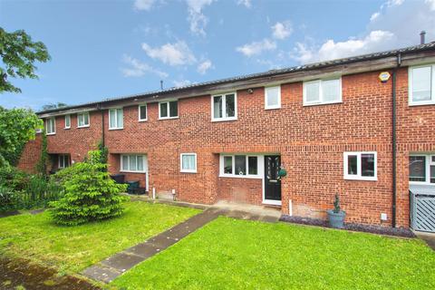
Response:
[[[50,203],[54,222],[74,226],[122,214],[127,198],[120,193],[127,186],[115,183],[106,171],[107,164],[100,160],[100,151],[91,151],[86,161],[53,176],[64,190],[63,198]]]

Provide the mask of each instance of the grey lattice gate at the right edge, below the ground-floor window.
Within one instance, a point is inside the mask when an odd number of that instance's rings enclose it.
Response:
[[[414,230],[435,232],[435,188],[410,186],[410,218]]]

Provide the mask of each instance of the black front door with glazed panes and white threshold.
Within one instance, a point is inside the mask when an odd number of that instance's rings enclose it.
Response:
[[[278,155],[265,156],[265,203],[281,205],[281,158]]]

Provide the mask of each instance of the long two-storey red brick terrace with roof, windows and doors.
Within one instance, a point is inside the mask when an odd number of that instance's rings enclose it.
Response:
[[[435,182],[434,105],[427,43],[38,114],[53,169],[103,140],[111,173],[179,200],[325,218],[339,193],[348,222],[409,227],[410,182]]]

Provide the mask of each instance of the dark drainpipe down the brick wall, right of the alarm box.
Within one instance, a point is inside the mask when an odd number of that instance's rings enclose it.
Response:
[[[392,208],[391,208],[391,226],[396,227],[396,74],[397,69],[401,66],[401,53],[397,54],[397,64],[392,71]]]

